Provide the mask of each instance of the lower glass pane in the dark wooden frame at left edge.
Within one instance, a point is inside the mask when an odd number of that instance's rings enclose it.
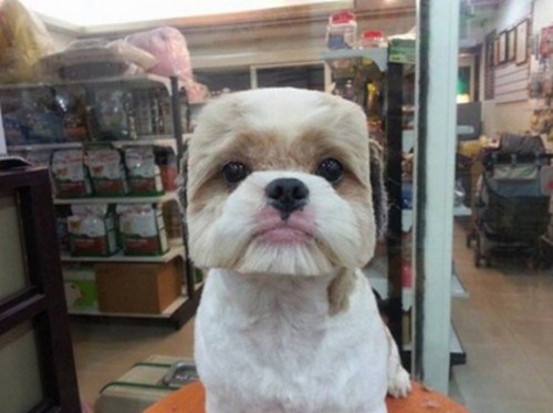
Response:
[[[0,335],[2,412],[29,412],[44,397],[38,340],[31,322]]]

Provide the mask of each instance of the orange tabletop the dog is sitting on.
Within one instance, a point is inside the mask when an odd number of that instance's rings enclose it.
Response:
[[[161,399],[144,413],[205,413],[206,393],[199,382],[188,384]],[[413,383],[406,399],[386,399],[388,413],[469,413],[450,399]]]

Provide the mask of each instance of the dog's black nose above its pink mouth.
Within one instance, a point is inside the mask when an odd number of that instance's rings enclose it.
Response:
[[[294,210],[307,204],[310,190],[300,179],[279,178],[265,187],[269,204],[279,209],[282,218],[286,219]]]

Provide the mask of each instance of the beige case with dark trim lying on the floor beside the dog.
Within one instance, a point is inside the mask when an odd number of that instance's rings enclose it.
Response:
[[[182,366],[187,368],[184,371]],[[179,378],[180,376],[180,378]],[[178,385],[171,378],[179,378]],[[100,392],[97,413],[142,413],[176,389],[198,380],[192,359],[150,355]]]

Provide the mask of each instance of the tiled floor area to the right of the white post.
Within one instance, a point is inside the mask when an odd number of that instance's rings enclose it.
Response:
[[[476,269],[459,225],[455,257],[470,295],[452,302],[468,358],[453,368],[456,396],[476,413],[553,412],[553,270],[515,258]]]

